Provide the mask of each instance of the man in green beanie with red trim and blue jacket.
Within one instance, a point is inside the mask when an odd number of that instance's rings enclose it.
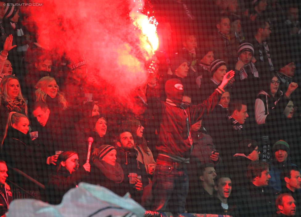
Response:
[[[291,162],[291,158],[289,157],[291,153],[290,146],[287,142],[283,140],[277,141],[273,145],[273,161],[269,162],[270,164],[270,181],[269,186],[273,187],[277,191],[281,191],[281,172],[290,166],[296,166]]]

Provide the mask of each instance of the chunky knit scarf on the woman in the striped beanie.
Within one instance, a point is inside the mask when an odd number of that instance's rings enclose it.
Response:
[[[122,183],[124,175],[119,163],[116,162],[115,166],[112,166],[103,160],[97,159],[94,161],[94,164],[109,180],[115,183]]]

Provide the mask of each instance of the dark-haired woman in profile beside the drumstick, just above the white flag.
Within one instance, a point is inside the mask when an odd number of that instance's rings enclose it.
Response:
[[[64,151],[57,158],[56,171],[49,177],[47,201],[51,204],[59,204],[63,195],[78,183],[85,181],[89,173],[89,163],[80,166],[75,151]]]

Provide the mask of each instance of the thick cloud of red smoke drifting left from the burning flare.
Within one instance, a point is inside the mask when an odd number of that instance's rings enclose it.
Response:
[[[45,43],[49,40],[50,49],[56,52],[54,58],[84,54],[88,73],[100,76],[106,83],[99,82],[96,87],[102,91],[105,86],[105,94],[110,98],[117,97],[119,103],[131,105],[130,94],[146,84],[148,73],[145,52],[139,47],[141,31],[129,17],[129,2],[45,0],[39,3],[43,6],[20,8],[27,15],[25,26],[30,30],[35,26],[40,40]]]

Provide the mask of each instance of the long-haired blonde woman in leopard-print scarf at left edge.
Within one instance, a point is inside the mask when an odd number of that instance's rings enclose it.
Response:
[[[0,138],[2,141],[5,124],[11,111],[27,116],[27,104],[22,96],[20,83],[13,75],[5,76],[0,83]]]

